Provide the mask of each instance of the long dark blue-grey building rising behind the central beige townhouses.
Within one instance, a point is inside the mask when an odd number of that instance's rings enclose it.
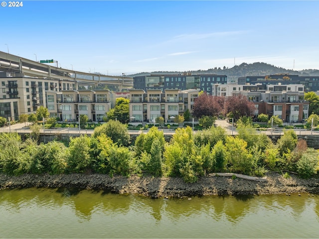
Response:
[[[190,90],[200,89],[212,94],[212,86],[214,84],[227,84],[226,75],[192,75],[191,73],[184,74],[163,74],[137,76],[133,78],[134,89],[144,90]]]

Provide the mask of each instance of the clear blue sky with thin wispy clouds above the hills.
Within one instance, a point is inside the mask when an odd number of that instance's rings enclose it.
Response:
[[[0,7],[0,51],[110,75],[319,69],[318,12],[319,1],[23,0]]]

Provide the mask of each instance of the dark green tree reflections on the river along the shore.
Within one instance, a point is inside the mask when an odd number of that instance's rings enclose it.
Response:
[[[177,223],[196,217],[205,217],[211,222],[226,220],[236,225],[258,213],[291,216],[298,222],[307,217],[305,212],[309,208],[313,208],[316,221],[319,221],[319,197],[307,194],[150,199],[75,188],[30,188],[2,190],[0,202],[1,208],[12,213],[19,213],[26,207],[53,210],[64,207],[72,210],[81,222],[90,221],[99,214],[111,218],[133,215],[154,220],[157,225],[167,219]]]

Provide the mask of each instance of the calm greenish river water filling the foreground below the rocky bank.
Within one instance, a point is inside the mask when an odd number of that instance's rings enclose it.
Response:
[[[0,191],[0,238],[318,238],[319,195],[150,199],[78,189]]]

